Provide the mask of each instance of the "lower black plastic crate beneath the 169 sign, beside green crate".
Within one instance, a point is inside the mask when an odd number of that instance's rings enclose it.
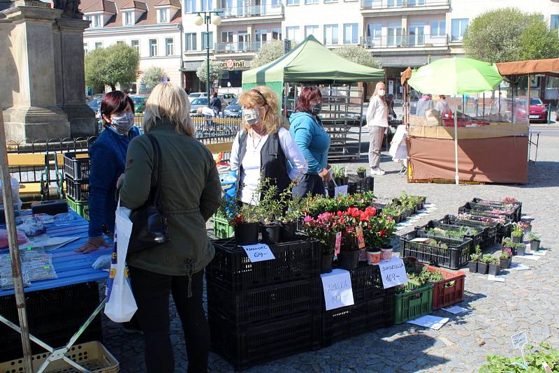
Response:
[[[393,324],[394,288],[388,288],[381,295],[366,302],[356,302],[353,306],[324,312],[321,346],[331,346],[343,339],[378,328],[388,328]]]

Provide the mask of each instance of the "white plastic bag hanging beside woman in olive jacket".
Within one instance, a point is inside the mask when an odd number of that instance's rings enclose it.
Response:
[[[112,261],[110,263],[109,281],[107,283],[107,303],[105,314],[115,323],[130,321],[138,309],[130,287],[126,253],[132,233],[130,209],[120,206],[116,211],[115,237],[112,244]]]

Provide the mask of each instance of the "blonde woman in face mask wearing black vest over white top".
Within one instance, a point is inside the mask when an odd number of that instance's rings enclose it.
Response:
[[[281,193],[291,180],[300,180],[307,173],[307,161],[284,127],[279,99],[272,89],[250,89],[238,102],[242,105],[244,128],[233,142],[231,172],[238,178],[238,199],[257,204],[260,196],[254,193],[261,177],[270,179]]]

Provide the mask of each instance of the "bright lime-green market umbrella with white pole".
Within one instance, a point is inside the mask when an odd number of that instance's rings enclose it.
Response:
[[[407,83],[419,92],[472,94],[491,91],[502,82],[497,66],[471,58],[437,59],[412,72]],[[458,185],[458,119],[454,112],[454,161]]]

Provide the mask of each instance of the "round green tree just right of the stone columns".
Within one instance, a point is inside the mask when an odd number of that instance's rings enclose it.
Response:
[[[110,86],[136,82],[140,57],[136,48],[126,44],[115,44],[107,48],[96,48],[85,56],[85,82],[87,85]]]

